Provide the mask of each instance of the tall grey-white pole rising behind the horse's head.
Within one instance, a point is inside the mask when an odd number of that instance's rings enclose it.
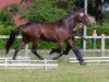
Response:
[[[84,1],[85,14],[87,14],[87,0]],[[84,37],[86,37],[87,26],[84,25]],[[83,50],[86,50],[86,40],[83,40]]]

